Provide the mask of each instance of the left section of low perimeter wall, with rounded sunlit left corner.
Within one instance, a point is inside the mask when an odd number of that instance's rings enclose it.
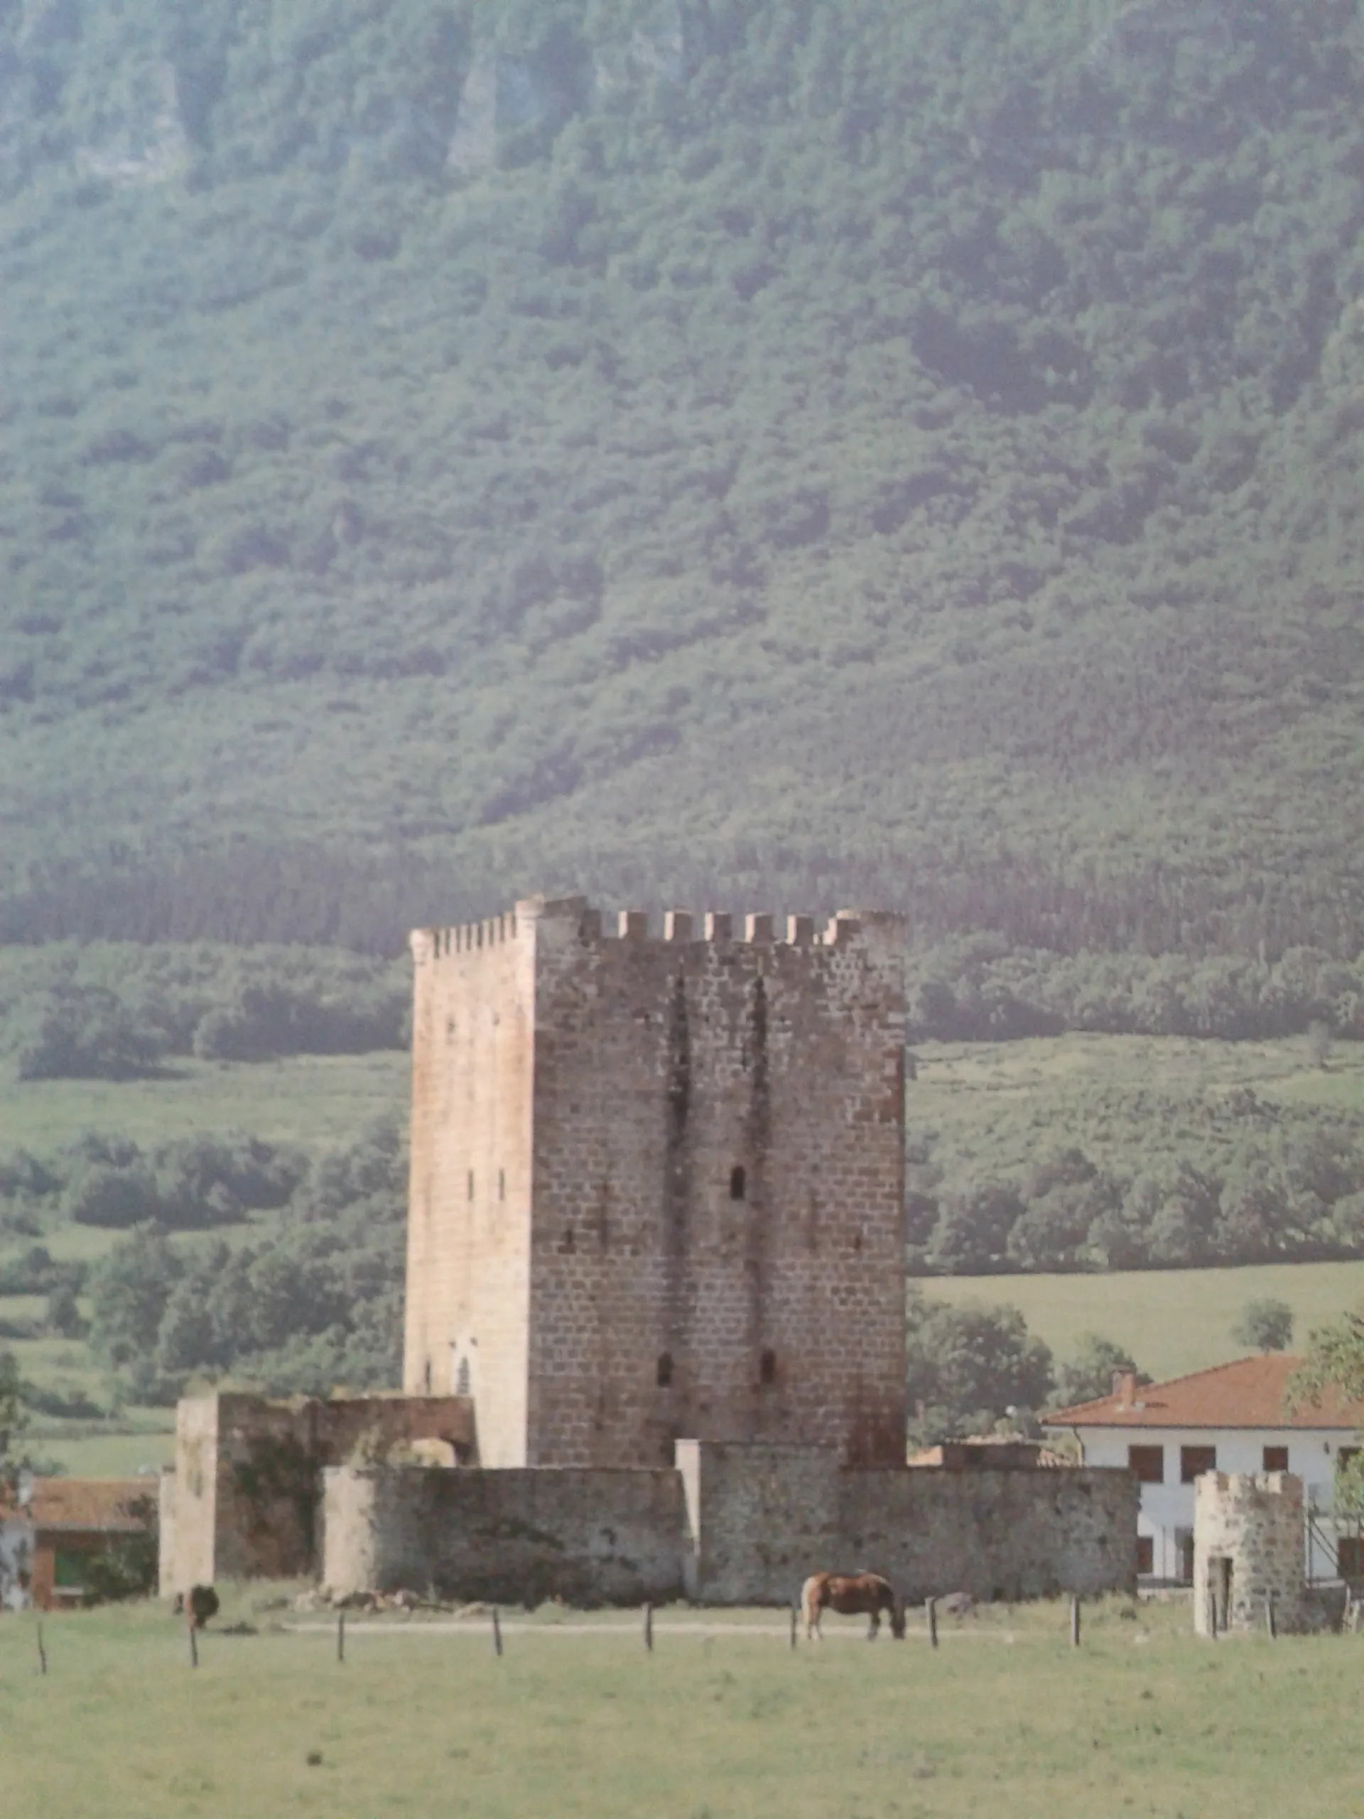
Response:
[[[322,1579],[502,1604],[664,1603],[682,1593],[682,1537],[677,1472],[342,1466],[326,1473]]]

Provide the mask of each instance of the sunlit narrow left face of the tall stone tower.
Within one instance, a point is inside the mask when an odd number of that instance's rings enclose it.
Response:
[[[533,911],[411,940],[404,1388],[473,1395],[495,1466],[526,1462]]]

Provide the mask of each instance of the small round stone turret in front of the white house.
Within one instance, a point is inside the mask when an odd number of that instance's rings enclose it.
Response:
[[[1224,1563],[1224,1564],[1220,1564]],[[1304,1575],[1302,1479],[1204,1472],[1193,1488],[1193,1628],[1260,1628],[1273,1595],[1284,1632],[1319,1626]]]

